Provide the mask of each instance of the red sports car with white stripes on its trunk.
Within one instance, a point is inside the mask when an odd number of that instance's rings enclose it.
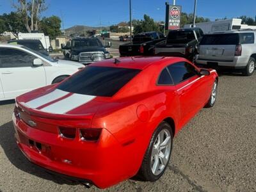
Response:
[[[17,97],[15,138],[29,161],[107,188],[139,175],[155,181],[173,136],[216,100],[215,70],[184,58],[93,63],[59,84]]]

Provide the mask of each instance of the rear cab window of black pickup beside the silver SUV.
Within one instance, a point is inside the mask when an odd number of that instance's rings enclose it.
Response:
[[[167,44],[187,44],[191,40],[195,40],[195,34],[192,30],[170,31]]]

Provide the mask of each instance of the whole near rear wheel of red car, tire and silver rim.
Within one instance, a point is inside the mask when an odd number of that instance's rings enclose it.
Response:
[[[154,132],[143,158],[138,176],[143,180],[156,181],[166,170],[172,153],[173,133],[166,122]]]

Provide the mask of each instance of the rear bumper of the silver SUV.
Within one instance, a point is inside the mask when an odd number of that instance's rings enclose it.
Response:
[[[216,59],[201,58],[196,56],[196,64],[208,65],[209,67],[223,67],[223,68],[244,68],[249,61],[248,56],[234,56],[232,59],[221,59],[216,57]]]

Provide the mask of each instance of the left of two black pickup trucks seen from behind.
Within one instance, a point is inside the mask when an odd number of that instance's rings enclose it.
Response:
[[[163,33],[152,31],[134,35],[132,42],[119,46],[120,56],[154,54],[154,45],[165,39]]]

